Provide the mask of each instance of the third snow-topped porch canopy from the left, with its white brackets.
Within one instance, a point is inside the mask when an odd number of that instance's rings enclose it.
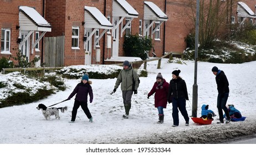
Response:
[[[131,23],[134,18],[138,18],[139,13],[125,0],[113,0],[112,3],[112,16],[121,17],[119,22],[114,26],[113,31],[119,27],[124,18],[129,18],[129,22],[126,23],[124,27],[121,27],[121,37],[122,33],[125,31],[127,26]],[[113,35],[113,34],[112,34]]]

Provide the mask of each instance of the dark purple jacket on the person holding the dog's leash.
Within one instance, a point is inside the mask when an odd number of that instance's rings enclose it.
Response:
[[[68,99],[71,99],[75,94],[75,100],[80,102],[86,102],[87,103],[87,97],[88,94],[90,96],[90,100],[93,101],[93,89],[91,89],[90,85],[91,81],[86,82],[84,84],[82,81],[76,85],[75,89],[71,94],[69,95]]]

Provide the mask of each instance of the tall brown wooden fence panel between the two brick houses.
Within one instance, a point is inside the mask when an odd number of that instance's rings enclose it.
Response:
[[[44,62],[48,67],[61,67],[64,65],[65,36],[45,37]]]

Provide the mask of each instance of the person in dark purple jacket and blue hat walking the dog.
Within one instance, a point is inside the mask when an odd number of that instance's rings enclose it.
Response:
[[[70,123],[75,122],[76,113],[78,112],[78,108],[80,106],[83,109],[85,115],[89,118],[89,122],[93,122],[93,117],[91,116],[91,113],[87,106],[88,94],[90,96],[90,103],[93,102],[93,89],[91,89],[90,84],[91,84],[91,81],[89,81],[88,74],[85,74],[82,77],[81,82],[78,85],[76,85],[73,92],[71,92],[71,94],[69,95],[68,99],[70,100],[76,94],[74,107],[72,110],[71,121],[69,121]]]

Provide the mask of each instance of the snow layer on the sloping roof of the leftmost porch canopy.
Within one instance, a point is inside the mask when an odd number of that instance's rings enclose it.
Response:
[[[21,6],[19,11],[25,13],[31,20],[33,20],[38,26],[51,27],[51,25],[45,20],[34,8]]]

